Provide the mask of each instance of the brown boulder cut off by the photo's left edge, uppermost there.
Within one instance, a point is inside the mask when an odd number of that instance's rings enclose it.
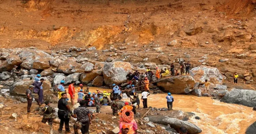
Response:
[[[19,66],[22,63],[19,56],[10,55],[4,62],[0,64],[0,72],[11,71],[14,66]]]

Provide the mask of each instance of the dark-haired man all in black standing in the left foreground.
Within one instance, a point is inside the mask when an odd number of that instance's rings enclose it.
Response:
[[[68,105],[67,99],[68,99],[67,93],[62,93],[61,98],[58,101],[58,108],[59,108],[58,117],[60,119],[59,130],[58,131],[60,133],[62,132],[62,128],[63,128],[64,123],[65,123],[65,130],[66,130],[65,133],[70,132],[70,129],[69,129],[69,119],[70,118],[65,117],[65,114],[70,111],[70,107]]]

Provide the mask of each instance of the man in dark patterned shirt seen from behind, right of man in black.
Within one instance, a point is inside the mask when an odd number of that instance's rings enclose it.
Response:
[[[82,134],[89,134],[89,125],[91,124],[91,116],[95,115],[86,107],[86,101],[80,101],[80,106],[74,109],[73,117],[77,118],[74,123],[74,133],[78,133],[78,129],[81,129]]]

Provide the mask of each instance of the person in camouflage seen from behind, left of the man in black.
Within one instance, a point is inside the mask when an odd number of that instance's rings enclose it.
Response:
[[[53,120],[56,118],[53,114],[55,113],[55,110],[52,106],[50,106],[49,101],[45,101],[44,103],[46,106],[42,107],[43,112],[43,119],[42,122],[46,123],[48,121],[49,125],[53,124]]]

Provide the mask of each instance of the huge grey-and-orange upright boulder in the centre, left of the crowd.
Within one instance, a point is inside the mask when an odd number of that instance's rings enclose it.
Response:
[[[104,82],[107,85],[125,83],[127,82],[126,75],[130,71],[132,71],[132,66],[129,62],[106,63],[103,68]]]

